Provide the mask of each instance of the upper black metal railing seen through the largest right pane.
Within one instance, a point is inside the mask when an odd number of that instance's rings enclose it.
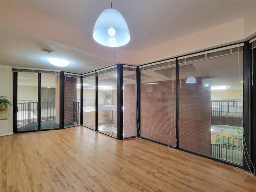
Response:
[[[243,117],[243,100],[212,100],[212,116]]]

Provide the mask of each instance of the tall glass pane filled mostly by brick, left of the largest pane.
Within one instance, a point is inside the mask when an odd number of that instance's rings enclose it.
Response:
[[[176,145],[175,64],[141,71],[141,136]]]

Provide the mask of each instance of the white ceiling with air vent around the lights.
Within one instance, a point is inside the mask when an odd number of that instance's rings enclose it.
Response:
[[[109,0],[1,0],[0,3],[1,65],[77,74],[115,64],[118,49],[145,50],[243,18],[256,7],[256,1],[244,0],[114,0],[113,8],[124,16],[131,40],[123,47],[109,48],[92,38],[94,23],[103,10],[110,8]],[[62,30],[63,26],[67,30]],[[54,50],[54,54],[42,52],[44,48]],[[46,60],[48,57],[71,63],[65,68],[55,67]]]

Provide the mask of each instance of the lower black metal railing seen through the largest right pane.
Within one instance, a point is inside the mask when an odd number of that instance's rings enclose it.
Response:
[[[242,164],[242,147],[223,143],[212,144],[212,157]]]

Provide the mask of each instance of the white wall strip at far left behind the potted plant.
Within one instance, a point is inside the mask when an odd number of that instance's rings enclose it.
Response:
[[[0,95],[7,96],[13,104],[12,68],[0,65]],[[13,108],[8,106],[9,119],[0,120],[0,136],[13,134]]]

